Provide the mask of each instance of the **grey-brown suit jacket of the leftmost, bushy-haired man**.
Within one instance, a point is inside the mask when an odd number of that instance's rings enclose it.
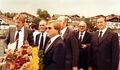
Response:
[[[6,39],[5,39],[6,44],[14,42],[15,31],[16,31],[15,27],[10,28],[8,30],[8,33],[7,33]],[[29,29],[24,28],[24,41],[26,41],[26,40],[29,42],[30,45],[34,44],[33,32],[30,31]]]

